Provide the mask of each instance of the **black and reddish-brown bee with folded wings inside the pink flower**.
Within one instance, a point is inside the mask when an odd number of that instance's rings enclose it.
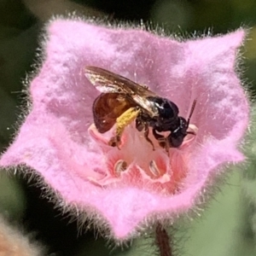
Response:
[[[125,127],[135,120],[138,131],[143,131],[145,139],[154,150],[154,143],[148,137],[149,127],[162,148],[178,148],[184,137],[194,134],[188,131],[189,121],[195,109],[193,102],[189,119],[178,115],[174,102],[158,96],[147,86],[137,84],[130,79],[112,73],[101,67],[85,67],[85,76],[102,94],[96,97],[92,111],[97,131],[104,133],[116,124],[114,137],[109,145],[118,147]],[[160,132],[170,131],[168,136]]]

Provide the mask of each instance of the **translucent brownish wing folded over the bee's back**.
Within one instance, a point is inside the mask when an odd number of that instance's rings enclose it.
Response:
[[[130,79],[126,79],[101,67],[85,67],[85,76],[102,93],[125,94],[149,114],[154,115],[157,113],[153,102],[147,99],[148,96],[157,95],[153,91],[148,90],[147,86],[132,82]]]

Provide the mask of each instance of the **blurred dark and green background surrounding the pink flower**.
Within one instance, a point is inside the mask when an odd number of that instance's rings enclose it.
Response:
[[[0,148],[4,150],[15,132],[21,104],[22,79],[33,69],[38,36],[52,15],[76,11],[80,15],[109,20],[152,21],[168,32],[194,35],[229,32],[240,26],[250,29],[243,49],[246,57],[242,74],[251,94],[256,89],[256,1],[255,0],[0,0]],[[256,132],[256,131],[255,131]],[[236,168],[227,184],[209,204],[202,217],[179,224],[176,236],[181,255],[256,255],[256,143],[253,131],[247,148],[249,163]],[[244,172],[241,172],[244,171]],[[35,181],[0,174],[0,212],[22,230],[42,242],[47,255],[152,255],[152,241],[138,239],[133,247],[113,250],[93,231],[78,235],[77,224],[54,209],[41,196]],[[186,236],[184,236],[186,234]],[[184,236],[184,237],[183,237]],[[181,238],[181,239],[180,239]]]

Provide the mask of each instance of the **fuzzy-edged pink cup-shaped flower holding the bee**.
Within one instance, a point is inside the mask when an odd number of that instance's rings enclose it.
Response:
[[[58,206],[79,210],[82,220],[123,240],[193,209],[212,177],[244,160],[238,145],[248,102],[235,71],[243,30],[179,42],[140,29],[54,20],[47,33],[42,67],[28,88],[32,106],[0,165],[32,167]],[[114,128],[101,134],[92,125],[100,92],[85,77],[87,66],[147,84],[185,119],[196,100],[196,136],[166,154],[155,141],[153,151],[131,124],[120,150],[108,146]]]

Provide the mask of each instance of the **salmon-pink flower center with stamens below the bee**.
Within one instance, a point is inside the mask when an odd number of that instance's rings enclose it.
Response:
[[[191,131],[196,133],[196,129],[195,125],[191,125]],[[134,125],[125,127],[119,148],[108,144],[113,137],[114,127],[102,134],[96,130],[95,125],[90,125],[88,131],[94,147],[102,151],[106,164],[105,175],[102,178],[90,177],[90,181],[101,186],[137,186],[164,194],[177,193],[182,187],[188,172],[188,146],[195,135],[185,137],[180,148],[169,148],[166,152],[151,135],[151,131],[148,137],[155,149]]]

